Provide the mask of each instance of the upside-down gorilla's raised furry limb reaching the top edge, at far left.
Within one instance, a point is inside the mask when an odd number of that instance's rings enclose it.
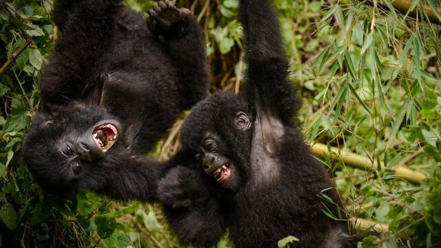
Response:
[[[40,80],[46,108],[68,105],[81,96],[96,63],[111,44],[116,0],[58,0],[53,17],[61,34]],[[54,97],[56,96],[56,97]]]

